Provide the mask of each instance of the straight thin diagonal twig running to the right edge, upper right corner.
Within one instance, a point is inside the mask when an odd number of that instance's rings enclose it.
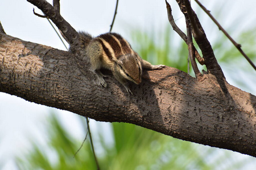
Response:
[[[226,37],[236,46],[236,48],[240,51],[240,53],[247,59],[247,61],[250,63],[251,66],[253,66],[254,70],[256,70],[256,66],[254,63],[251,61],[251,59],[243,52],[241,49],[241,44],[238,44],[232,37],[228,34],[228,32],[225,31],[223,27],[221,27],[220,23],[217,22],[217,20],[210,14],[209,10],[205,8],[199,1],[195,0],[196,3],[207,13],[207,15],[210,17],[210,19],[213,20],[213,22],[218,26],[218,28],[225,34]]]

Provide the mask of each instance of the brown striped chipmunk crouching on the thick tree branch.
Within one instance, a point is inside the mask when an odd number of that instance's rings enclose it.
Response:
[[[104,33],[92,37],[89,33],[79,32],[85,56],[89,58],[92,71],[96,74],[101,86],[107,87],[106,77],[101,68],[111,70],[129,94],[133,94],[128,87],[127,80],[136,84],[141,83],[142,69],[163,69],[165,65],[151,65],[134,52],[129,42],[118,33]]]

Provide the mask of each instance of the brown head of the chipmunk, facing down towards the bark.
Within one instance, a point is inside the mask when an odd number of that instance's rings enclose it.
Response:
[[[138,59],[138,54],[126,54],[121,56],[117,61],[117,69],[119,73],[136,84],[141,83],[142,65]]]

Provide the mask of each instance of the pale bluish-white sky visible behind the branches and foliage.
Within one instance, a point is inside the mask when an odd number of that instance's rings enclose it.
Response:
[[[234,39],[236,39],[242,31],[256,26],[254,9],[256,2],[253,0],[202,0],[200,2],[212,11],[212,14],[216,14],[216,19],[224,28],[229,28],[229,33]],[[61,15],[76,30],[87,31],[93,36],[109,31],[109,26],[114,14],[115,0],[63,0],[60,3]],[[169,3],[172,6],[176,23],[181,28],[184,28],[184,18],[179,12],[176,2],[169,1]],[[197,14],[199,14],[201,24],[205,28],[205,33],[209,41],[218,40],[217,35],[220,33],[218,28],[212,24],[208,16],[203,15],[202,10],[200,10],[194,1],[192,1],[192,7],[196,10]],[[36,12],[40,13],[38,8],[24,0],[1,0],[0,22],[5,32],[8,35],[18,37],[25,41],[36,42],[38,44],[65,50],[65,47],[61,44],[48,21],[35,16],[32,12],[33,8],[35,8]],[[163,32],[166,30],[166,25],[168,25],[168,19],[164,0],[120,0],[113,32],[121,33],[121,35],[130,41],[130,29],[138,29],[145,32]],[[178,36],[174,36],[174,39],[179,43],[180,38]],[[230,42],[227,40],[224,43],[229,44]],[[246,41],[239,43],[245,44]],[[254,63],[256,63],[256,61],[254,61]],[[247,66],[250,67],[250,65]],[[233,79],[234,76],[229,76],[233,68],[234,66],[222,66],[228,82],[256,95],[255,72],[251,71],[254,74],[247,74],[236,70],[237,76],[249,84],[244,87],[241,86],[241,84],[236,84],[236,80]],[[2,163],[4,163],[3,170],[16,169],[13,158],[15,155],[22,155],[24,151],[30,148],[31,138],[35,139],[38,143],[46,145],[44,141],[46,137],[44,126],[47,121],[47,116],[51,114],[50,112],[57,112],[63,124],[67,127],[67,130],[76,131],[73,135],[81,139],[81,141],[83,140],[84,133],[81,130],[80,124],[73,123],[79,121],[77,118],[79,116],[76,114],[31,103],[19,97],[0,92],[0,165],[2,161]],[[96,124],[98,123],[93,120],[91,122],[92,129],[97,129]],[[101,124],[105,124],[104,126],[108,127],[108,123],[101,122]],[[73,125],[76,126],[73,127]],[[240,158],[241,156],[244,156],[243,159],[248,157],[236,153],[234,154],[234,159],[235,157]]]

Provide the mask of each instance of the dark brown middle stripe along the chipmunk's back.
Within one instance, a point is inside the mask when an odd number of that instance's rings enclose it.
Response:
[[[111,48],[113,49],[115,58],[119,58],[123,55],[122,49],[121,49],[121,43],[118,42],[118,39],[115,39],[110,33],[105,33],[100,35],[102,39],[104,39],[106,42],[109,43]]]

